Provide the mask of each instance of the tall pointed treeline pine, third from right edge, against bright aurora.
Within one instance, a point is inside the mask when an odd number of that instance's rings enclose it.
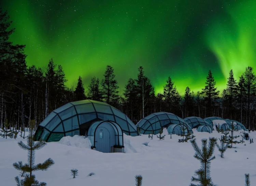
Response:
[[[228,104],[229,104],[230,119],[232,120],[233,112],[234,112],[233,105],[234,105],[235,96],[237,95],[237,81],[234,79],[234,74],[232,69],[229,72],[226,93],[227,93],[226,95],[227,95]]]

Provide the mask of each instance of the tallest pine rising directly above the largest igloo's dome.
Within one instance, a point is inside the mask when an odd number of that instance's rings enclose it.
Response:
[[[102,95],[104,101],[110,105],[116,105],[118,102],[117,81],[115,79],[114,68],[110,65],[106,66],[104,79],[101,82]]]

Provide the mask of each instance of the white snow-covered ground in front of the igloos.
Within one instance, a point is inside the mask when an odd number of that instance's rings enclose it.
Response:
[[[200,133],[193,129],[196,141],[201,145],[202,138],[216,137],[221,134]],[[240,135],[235,132],[235,135]],[[143,176],[142,185],[188,186],[194,171],[200,168],[194,150],[188,143],[178,143],[180,136],[168,135],[165,140],[159,140],[156,135],[148,139],[148,135],[131,137],[124,135],[125,153],[101,153],[90,149],[90,141],[81,136],[64,137],[59,142],[50,142],[35,153],[35,163],[52,158],[55,164],[48,171],[34,172],[38,181],[44,181],[48,186],[79,186],[79,185],[111,185],[131,186],[134,176]],[[250,140],[243,144],[235,144],[236,149],[228,149],[224,158],[219,156],[215,148],[211,163],[211,176],[218,186],[244,185],[244,174],[250,174],[251,185],[256,185],[256,132],[251,132]],[[242,139],[242,137],[237,140]],[[27,162],[27,152],[20,149],[19,139],[0,139],[0,185],[16,185],[14,177],[19,174],[12,166],[14,162]],[[143,143],[148,142],[148,146]],[[246,144],[246,146],[244,146]],[[235,152],[235,150],[237,152]],[[79,170],[79,176],[72,179],[70,170]],[[90,172],[95,175],[88,176]]]

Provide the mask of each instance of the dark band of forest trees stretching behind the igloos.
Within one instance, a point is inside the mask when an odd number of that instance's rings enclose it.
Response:
[[[39,125],[50,112],[66,103],[92,99],[116,107],[134,124],[151,113],[165,111],[181,118],[217,116],[255,129],[256,76],[251,66],[244,69],[239,79],[234,79],[230,69],[222,93],[217,90],[209,70],[199,92],[187,87],[184,95],[180,95],[176,90],[179,85],[169,76],[163,93],[156,94],[142,66],[138,66],[137,78],[128,80],[123,94],[118,92],[118,80],[110,65],[101,77],[91,77],[88,87],[84,87],[80,76],[75,87],[67,87],[65,72],[53,59],[46,69],[27,66],[25,45],[9,41],[15,31],[10,28],[11,23],[8,13],[0,9],[0,128],[6,121],[10,127],[22,129],[29,126],[31,120]]]

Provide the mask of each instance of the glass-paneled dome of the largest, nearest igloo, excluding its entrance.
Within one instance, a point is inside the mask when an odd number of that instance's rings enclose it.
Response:
[[[59,141],[64,136],[86,135],[95,121],[113,121],[123,132],[138,136],[136,126],[121,111],[103,102],[81,100],[52,111],[37,128],[35,140]]]

